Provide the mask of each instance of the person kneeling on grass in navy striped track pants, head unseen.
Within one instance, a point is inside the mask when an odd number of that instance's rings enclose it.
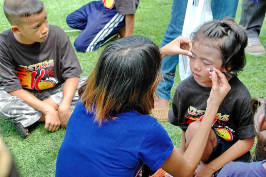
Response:
[[[82,30],[74,41],[78,52],[92,52],[117,34],[133,35],[139,0],[92,1],[66,17],[69,27]]]

